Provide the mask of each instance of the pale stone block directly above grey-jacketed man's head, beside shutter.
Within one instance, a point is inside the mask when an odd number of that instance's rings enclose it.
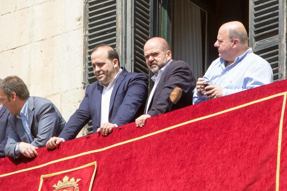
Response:
[[[82,29],[13,50],[13,73],[24,80],[31,92],[49,97],[82,87]]]

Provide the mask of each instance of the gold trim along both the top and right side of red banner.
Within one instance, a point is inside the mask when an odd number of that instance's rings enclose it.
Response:
[[[183,126],[183,125],[187,125],[189,123],[193,123],[193,122],[196,122],[196,121],[200,121],[200,120],[203,120],[203,119],[214,117],[216,115],[220,115],[220,114],[223,114],[223,113],[234,111],[236,109],[240,109],[240,108],[243,108],[243,107],[255,104],[255,103],[259,103],[261,101],[266,101],[268,99],[272,99],[272,98],[275,98],[275,97],[284,96],[284,101],[283,101],[283,105],[282,105],[281,119],[280,119],[280,127],[279,127],[279,137],[278,137],[278,153],[277,153],[277,167],[276,167],[276,191],[277,191],[277,190],[279,190],[279,170],[280,170],[281,140],[282,140],[283,117],[284,117],[284,111],[285,111],[285,105],[286,105],[286,95],[287,95],[287,92],[274,94],[274,95],[271,95],[271,96],[268,96],[268,97],[265,97],[265,98],[261,98],[261,99],[255,100],[255,101],[251,101],[249,103],[245,103],[243,105],[239,105],[239,106],[236,106],[236,107],[232,107],[230,109],[219,111],[217,113],[213,113],[213,114],[210,114],[210,115],[199,117],[197,119],[192,119],[190,121],[179,123],[177,125],[173,125],[171,127],[167,127],[165,129],[161,129],[159,131],[155,131],[153,133],[149,133],[149,134],[146,134],[146,135],[143,135],[143,136],[140,136],[140,137],[129,139],[127,141],[116,143],[114,145],[110,145],[110,146],[104,147],[102,149],[96,149],[96,150],[92,150],[92,151],[87,151],[87,152],[79,153],[79,154],[72,155],[72,156],[69,156],[69,157],[64,157],[64,158],[61,158],[61,159],[58,159],[58,160],[50,161],[50,162],[47,162],[47,163],[44,163],[44,164],[41,164],[41,165],[38,165],[38,166],[34,166],[34,167],[31,167],[31,168],[26,168],[26,169],[14,171],[14,172],[9,172],[7,174],[1,174],[0,178],[4,177],[4,176],[9,176],[9,175],[12,175],[12,174],[20,173],[20,172],[25,172],[25,171],[29,171],[29,170],[33,170],[33,169],[37,169],[37,168],[42,168],[42,167],[50,165],[50,164],[54,164],[54,163],[57,163],[57,162],[61,162],[61,161],[72,159],[72,158],[76,158],[76,157],[80,157],[80,156],[83,156],[83,155],[104,151],[104,150],[107,150],[107,149],[110,149],[110,148],[113,148],[113,147],[117,147],[119,145],[123,145],[123,144],[126,144],[126,143],[130,143],[130,142],[133,142],[133,141],[144,139],[146,137],[149,137],[149,136],[152,136],[152,135],[156,135],[158,133],[162,133],[162,132],[168,131],[170,129],[174,129],[174,128],[177,128],[177,127],[180,127],[180,126]]]

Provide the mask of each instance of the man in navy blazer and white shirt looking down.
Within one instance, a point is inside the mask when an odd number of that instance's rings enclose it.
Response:
[[[98,82],[87,86],[79,109],[70,117],[59,137],[52,137],[47,142],[48,148],[75,138],[90,119],[93,132],[106,136],[113,128],[131,122],[146,100],[147,77],[120,68],[119,55],[112,47],[96,46],[91,59]]]

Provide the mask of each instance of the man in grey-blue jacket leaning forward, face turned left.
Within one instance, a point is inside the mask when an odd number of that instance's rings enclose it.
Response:
[[[6,156],[37,156],[36,149],[59,135],[65,126],[66,121],[56,106],[47,99],[30,97],[27,86],[17,76],[1,81],[0,95],[2,105],[11,113],[8,118],[11,129],[4,149]]]

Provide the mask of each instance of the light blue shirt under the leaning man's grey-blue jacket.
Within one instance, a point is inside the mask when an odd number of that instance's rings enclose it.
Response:
[[[31,131],[29,128],[29,123],[28,123],[28,100],[29,98],[26,100],[24,106],[22,107],[20,114],[17,114],[16,117],[22,120],[22,124],[24,127],[24,130],[26,131],[29,140],[31,141],[31,143],[33,142],[33,138],[31,136]],[[15,154],[20,154],[19,148],[18,148],[19,143],[16,145],[15,147]]]

